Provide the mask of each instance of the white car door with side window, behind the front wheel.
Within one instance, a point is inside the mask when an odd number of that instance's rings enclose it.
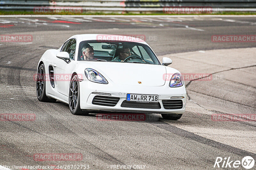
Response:
[[[69,82],[72,74],[71,71],[75,64],[76,39],[70,39],[64,43],[60,52],[62,51],[69,54],[70,60],[67,61],[57,57],[54,59],[55,82],[58,92],[68,96]]]

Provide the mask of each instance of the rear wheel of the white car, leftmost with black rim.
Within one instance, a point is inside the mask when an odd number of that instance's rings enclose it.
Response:
[[[36,75],[36,96],[40,102],[56,102],[56,99],[46,96],[45,90],[45,68],[41,64]]]

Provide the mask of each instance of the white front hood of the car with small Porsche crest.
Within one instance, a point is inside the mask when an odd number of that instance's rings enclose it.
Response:
[[[163,75],[166,74],[166,69],[162,65],[100,61],[85,62],[92,65],[92,69],[98,71],[113,83],[134,86],[163,86],[165,84]]]

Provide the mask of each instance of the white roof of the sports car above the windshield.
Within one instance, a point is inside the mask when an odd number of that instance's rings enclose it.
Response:
[[[128,41],[128,42],[137,42],[141,44],[148,45],[143,39],[137,38],[137,37],[144,37],[145,35],[131,35],[131,36],[125,36],[125,35],[111,35],[111,34],[77,34],[73,35],[70,38],[77,38],[82,39],[82,41],[86,40],[118,40],[118,41]]]

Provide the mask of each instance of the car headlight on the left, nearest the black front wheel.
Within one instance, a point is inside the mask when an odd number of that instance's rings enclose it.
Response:
[[[108,81],[101,75],[98,71],[93,70],[91,68],[86,68],[84,70],[85,76],[88,80],[95,82],[95,83],[102,83],[102,84],[108,84]]]

